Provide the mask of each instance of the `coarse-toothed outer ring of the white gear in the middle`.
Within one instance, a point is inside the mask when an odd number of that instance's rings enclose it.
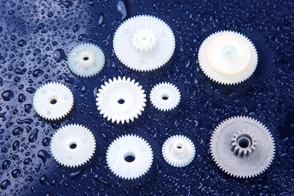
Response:
[[[123,85],[126,89],[132,89],[131,92],[136,92],[136,98],[137,99],[139,97],[139,104],[134,106],[134,109],[132,110],[131,113],[127,113],[127,114],[119,114],[117,113],[117,111],[115,111],[114,108],[106,108],[105,107],[105,101],[109,101],[110,98],[105,98],[104,95],[108,95],[107,93],[109,91],[112,90],[112,88],[114,88],[117,85]],[[128,98],[129,96],[133,96],[132,94],[127,94],[127,92],[121,92],[119,95],[117,95],[118,93],[113,92],[113,95],[116,95],[118,97],[119,101],[120,99],[123,99],[123,101],[127,101],[124,100],[125,98]],[[124,98],[122,97],[124,96]],[[98,106],[98,110],[100,111],[100,114],[103,115],[103,118],[107,118],[107,121],[111,121],[112,123],[129,123],[129,120],[131,120],[132,122],[135,119],[138,119],[138,115],[142,115],[142,111],[144,111],[144,107],[146,106],[146,94],[145,91],[142,90],[142,86],[139,86],[139,83],[136,82],[135,80],[131,80],[131,78],[126,78],[125,76],[123,76],[123,78],[121,78],[120,76],[118,78],[113,78],[113,80],[109,79],[108,82],[104,82],[104,85],[101,85],[101,88],[98,89],[98,94],[97,94],[97,98],[96,98],[96,105]],[[115,103],[114,103],[115,104]],[[123,103],[121,103],[123,104]],[[120,105],[118,105],[119,107]],[[117,108],[116,108],[117,109]]]

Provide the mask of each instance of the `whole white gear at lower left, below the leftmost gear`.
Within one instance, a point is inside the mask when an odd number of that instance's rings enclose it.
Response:
[[[79,124],[66,125],[60,128],[50,142],[54,159],[66,167],[81,166],[95,153],[96,140],[92,132]]]

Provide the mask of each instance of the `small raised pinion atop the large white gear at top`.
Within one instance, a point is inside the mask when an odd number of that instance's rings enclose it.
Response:
[[[156,44],[156,36],[152,32],[152,30],[148,30],[148,28],[141,28],[141,30],[137,30],[132,37],[133,47],[140,52],[147,52],[148,50],[152,50],[152,48]]]

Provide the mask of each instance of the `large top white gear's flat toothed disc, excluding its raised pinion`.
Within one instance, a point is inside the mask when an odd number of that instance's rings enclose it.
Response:
[[[132,39],[141,28],[147,28],[155,34],[156,43],[151,51],[141,52],[133,46]],[[118,59],[128,68],[142,72],[156,70],[165,65],[171,59],[174,48],[175,39],[170,26],[149,15],[127,19],[119,26],[113,38],[113,49]]]

